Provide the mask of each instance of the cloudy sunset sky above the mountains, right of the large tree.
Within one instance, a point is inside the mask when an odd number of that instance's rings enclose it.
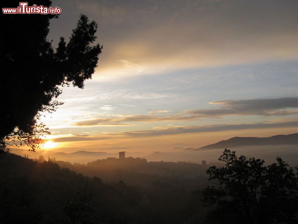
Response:
[[[169,151],[298,132],[298,1],[52,1],[53,46],[83,13],[103,53],[42,119],[45,148]]]

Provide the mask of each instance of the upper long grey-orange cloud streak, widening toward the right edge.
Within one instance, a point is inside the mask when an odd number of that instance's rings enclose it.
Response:
[[[260,115],[260,116],[286,116],[298,114],[298,97],[276,98],[276,99],[248,99],[248,100],[226,100],[210,102],[218,105],[215,109],[187,110],[169,116],[156,115],[155,113],[167,113],[168,111],[150,111],[152,115],[112,115],[100,116],[91,120],[78,121],[76,126],[96,126],[109,123],[125,122],[157,122],[157,121],[187,121],[202,117],[220,118],[227,115]],[[150,113],[149,112],[149,113]]]

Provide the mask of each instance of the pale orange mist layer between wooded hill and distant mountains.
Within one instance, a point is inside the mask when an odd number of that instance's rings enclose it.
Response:
[[[238,148],[229,148],[232,151],[236,151],[238,156],[245,155],[247,157],[254,157],[264,159],[266,164],[276,162],[277,157],[281,157],[284,161],[288,162],[291,166],[298,164],[298,147],[297,145],[269,145],[269,146],[247,146]],[[198,151],[194,150],[173,150],[169,152],[125,152],[126,157],[141,157],[147,159],[148,162],[178,162],[187,161],[201,164],[202,160],[206,160],[207,163],[218,162],[218,158],[221,156],[224,149],[202,149]],[[29,158],[39,158],[43,155],[45,160],[48,157],[54,158],[58,161],[67,161],[71,163],[87,163],[95,161],[97,159],[105,159],[108,157],[118,158],[118,153],[107,153],[107,152],[88,152],[88,151],[77,151],[74,153],[55,153],[52,151],[38,151],[30,152],[21,149],[12,149],[14,154],[24,156],[28,155]]]

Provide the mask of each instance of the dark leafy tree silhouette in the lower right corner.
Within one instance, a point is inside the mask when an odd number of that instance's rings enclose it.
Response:
[[[209,180],[217,187],[204,191],[204,202],[215,204],[209,223],[297,223],[298,168],[290,168],[281,158],[264,166],[264,160],[236,157],[225,149],[224,166],[210,167]]]

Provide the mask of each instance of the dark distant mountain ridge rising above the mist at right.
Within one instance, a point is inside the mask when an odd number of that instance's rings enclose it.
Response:
[[[206,145],[201,149],[216,149],[216,148],[235,148],[239,146],[249,145],[298,145],[298,133],[288,135],[274,135],[271,137],[233,137],[228,140],[223,140],[215,144]]]

